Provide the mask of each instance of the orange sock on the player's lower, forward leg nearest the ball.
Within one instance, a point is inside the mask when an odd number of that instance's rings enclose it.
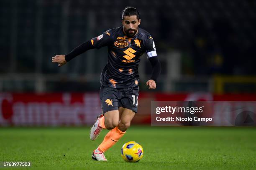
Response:
[[[110,130],[107,135],[105,136],[103,142],[100,144],[99,149],[103,152],[106,152],[109,148],[111,148],[115,143],[118,142],[120,138],[123,137],[125,132],[122,132],[118,129],[118,127],[115,127],[114,129]]]

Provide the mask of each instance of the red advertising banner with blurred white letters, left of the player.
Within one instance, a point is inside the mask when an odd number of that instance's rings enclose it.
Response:
[[[0,94],[0,125],[89,125],[101,114],[97,93]]]

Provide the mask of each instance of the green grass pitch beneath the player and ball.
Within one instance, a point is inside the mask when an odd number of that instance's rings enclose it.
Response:
[[[108,162],[92,160],[92,151],[108,130],[91,141],[90,128],[0,128],[0,162],[31,162],[27,168],[81,170],[256,169],[254,127],[132,126],[105,153]],[[120,156],[128,141],[140,143],[144,156],[126,163]]]

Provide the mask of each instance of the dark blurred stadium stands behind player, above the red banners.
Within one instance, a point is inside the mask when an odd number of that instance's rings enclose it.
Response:
[[[107,47],[64,67],[51,57],[121,26],[126,6],[156,43],[158,91],[256,92],[256,0],[0,0],[0,92],[97,91]]]

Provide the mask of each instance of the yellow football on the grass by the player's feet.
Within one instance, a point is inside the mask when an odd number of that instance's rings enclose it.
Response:
[[[136,163],[143,157],[143,148],[134,141],[125,143],[121,148],[121,156],[126,162]]]

